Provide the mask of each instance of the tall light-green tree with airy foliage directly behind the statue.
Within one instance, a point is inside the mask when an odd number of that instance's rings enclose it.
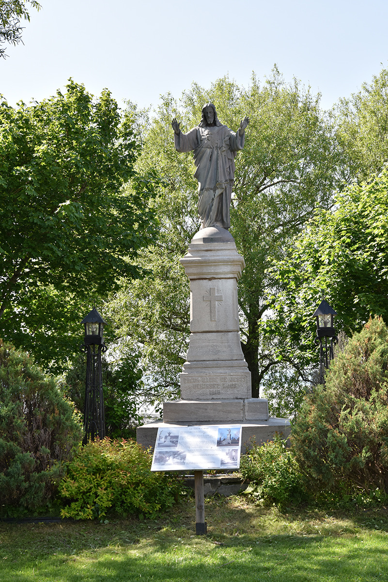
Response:
[[[252,372],[253,396],[272,367],[285,366],[279,340],[268,325],[266,274],[272,258],[282,257],[315,208],[329,208],[337,184],[339,152],[329,116],[319,109],[319,96],[294,80],[288,84],[275,69],[263,84],[253,77],[241,88],[227,77],[209,90],[193,84],[177,102],[166,95],[155,118],[143,129],[141,172],[157,172],[161,182],[155,208],[160,233],[139,255],[139,265],[152,275],[135,281],[108,307],[120,335],[141,350],[145,377],[153,393],[176,394],[189,335],[189,283],[179,265],[199,229],[196,180],[191,154],[177,154],[171,119],[182,130],[197,125],[204,103],[214,102],[218,118],[237,129],[250,117],[246,144],[236,158],[231,222],[247,267],[239,282],[242,348]],[[124,323],[125,321],[125,323]]]

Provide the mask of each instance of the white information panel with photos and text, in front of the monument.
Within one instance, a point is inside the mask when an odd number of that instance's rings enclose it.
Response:
[[[238,469],[241,425],[158,428],[151,471]]]

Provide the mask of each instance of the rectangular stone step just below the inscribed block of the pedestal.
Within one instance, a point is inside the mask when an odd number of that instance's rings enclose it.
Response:
[[[265,398],[230,398],[222,400],[173,400],[163,403],[165,423],[215,424],[240,423],[245,420],[268,420]]]

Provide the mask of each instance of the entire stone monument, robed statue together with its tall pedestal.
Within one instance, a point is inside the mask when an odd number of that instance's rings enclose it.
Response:
[[[190,342],[181,373],[181,399],[163,404],[163,421],[139,427],[137,441],[155,446],[157,428],[174,425],[241,424],[242,452],[275,432],[290,434],[285,418],[268,416],[268,401],[252,398],[251,375],[241,349],[237,282],[245,267],[229,233],[234,158],[245,140],[249,118],[237,133],[221,125],[213,104],[202,121],[183,134],[173,119],[177,151],[193,151],[199,184],[202,229],[181,258],[190,279]]]

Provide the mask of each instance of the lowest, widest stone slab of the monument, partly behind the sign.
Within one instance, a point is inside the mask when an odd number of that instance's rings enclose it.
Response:
[[[144,424],[142,427],[138,427],[136,434],[136,441],[142,445],[145,449],[155,447],[157,430],[159,427],[188,427],[193,424],[222,424],[215,421],[212,422],[196,422],[196,423],[165,423],[161,420],[156,420],[153,423]],[[253,421],[253,422],[243,422],[234,423],[242,425],[242,440],[241,440],[241,453],[242,455],[246,453],[247,448],[249,448],[249,443],[254,439],[257,445],[262,445],[267,441],[274,439],[275,433],[280,433],[284,438],[288,438],[291,433],[290,421],[287,418],[268,418],[267,421]]]

